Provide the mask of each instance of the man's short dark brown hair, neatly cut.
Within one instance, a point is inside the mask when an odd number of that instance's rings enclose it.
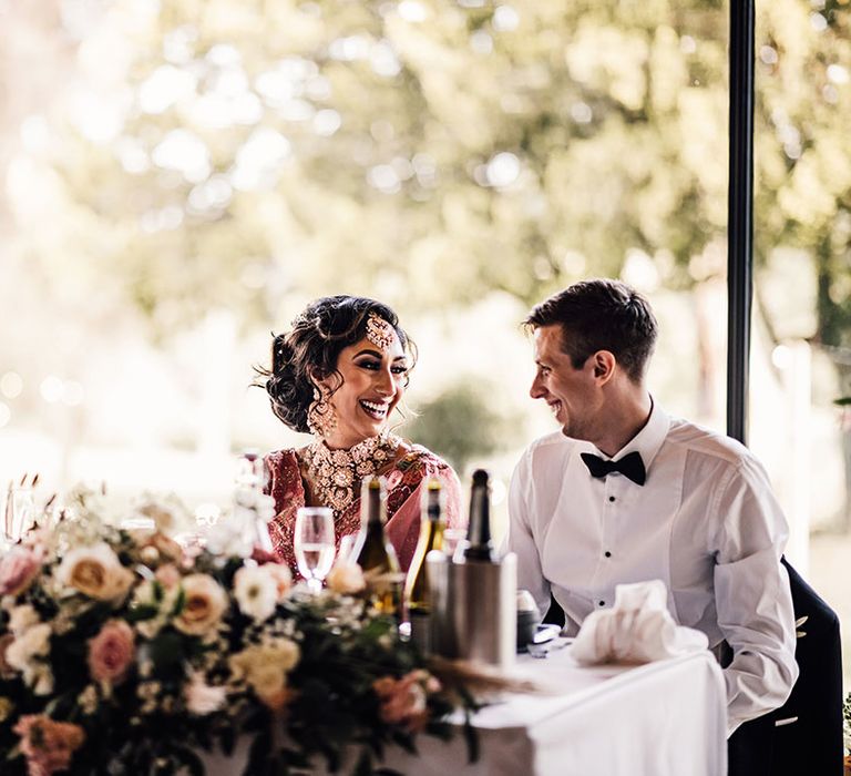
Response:
[[[634,382],[643,379],[658,326],[647,299],[621,280],[581,280],[532,308],[524,325],[562,327],[562,348],[580,369],[608,350]]]

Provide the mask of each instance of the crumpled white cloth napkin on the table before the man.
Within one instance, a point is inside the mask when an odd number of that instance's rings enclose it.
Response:
[[[619,584],[615,605],[585,617],[571,647],[577,663],[649,663],[700,652],[709,646],[705,633],[677,625],[667,607],[662,580]]]

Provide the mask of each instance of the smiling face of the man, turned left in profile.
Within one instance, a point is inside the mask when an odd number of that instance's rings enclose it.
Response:
[[[550,406],[564,433],[574,439],[591,439],[591,427],[601,398],[594,379],[594,359],[578,369],[564,351],[562,327],[535,329],[535,379],[529,394]]]

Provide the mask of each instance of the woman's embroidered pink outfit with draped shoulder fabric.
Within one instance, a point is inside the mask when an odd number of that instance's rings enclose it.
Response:
[[[305,484],[301,481],[295,449],[276,450],[266,456],[269,472],[268,492],[275,499],[276,517],[269,523],[269,535],[278,558],[298,575],[293,539],[296,512],[305,506]],[[411,445],[387,471],[387,523],[385,530],[399,558],[402,571],[408,571],[420,535],[420,510],[424,482],[437,477],[445,493],[448,528],[461,528],[461,487],[455,472],[443,459],[420,445]],[[335,539],[360,530],[360,498],[356,498],[335,521]]]

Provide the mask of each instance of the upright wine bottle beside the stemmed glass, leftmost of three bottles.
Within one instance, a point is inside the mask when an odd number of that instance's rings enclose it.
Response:
[[[396,550],[385,535],[387,490],[382,478],[363,478],[360,514],[360,533],[352,557],[367,578],[372,605],[382,614],[399,617],[402,575]]]

